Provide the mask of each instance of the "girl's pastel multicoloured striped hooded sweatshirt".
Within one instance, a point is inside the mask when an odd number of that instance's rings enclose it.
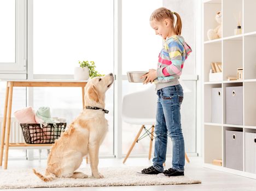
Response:
[[[156,90],[179,84],[179,76],[189,53],[192,50],[180,35],[166,38],[164,47],[159,53],[157,79],[154,80]]]

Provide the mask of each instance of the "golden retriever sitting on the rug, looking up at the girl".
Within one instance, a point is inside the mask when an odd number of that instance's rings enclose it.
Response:
[[[105,93],[114,82],[112,73],[94,77],[85,86],[86,108],[69,125],[51,148],[45,175],[33,169],[34,174],[44,182],[58,177],[87,178],[83,172],[75,172],[83,157],[89,154],[92,176],[103,178],[98,172],[98,151],[107,133],[108,122],[104,117]]]

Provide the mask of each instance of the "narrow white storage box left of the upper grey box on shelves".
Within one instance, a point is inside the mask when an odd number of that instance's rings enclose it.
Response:
[[[212,88],[212,123],[222,123],[222,88]]]

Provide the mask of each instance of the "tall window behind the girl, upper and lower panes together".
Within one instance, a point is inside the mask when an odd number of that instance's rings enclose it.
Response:
[[[185,141],[185,151],[196,152],[196,74],[195,70],[195,33],[194,33],[194,3],[195,1],[123,1],[123,74],[126,71],[143,71],[156,69],[158,55],[162,48],[162,39],[155,35],[149,25],[152,12],[160,7],[177,11],[182,17],[182,35],[192,47],[193,53],[185,62],[183,74],[179,80],[184,89],[184,100],[181,107],[182,129]],[[188,8],[183,8],[184,5]],[[131,11],[132,10],[132,14]],[[176,18],[176,16],[174,16]],[[136,91],[142,91],[149,85],[129,83],[123,81],[123,96]],[[156,100],[155,100],[156,101]],[[143,111],[142,111],[143,112]],[[123,122],[123,154],[129,150],[133,139],[141,126]],[[147,127],[149,128],[149,126]],[[149,151],[149,137],[139,141],[131,154],[147,154]],[[153,148],[154,150],[154,148]],[[172,153],[172,142],[168,139],[167,153]]]

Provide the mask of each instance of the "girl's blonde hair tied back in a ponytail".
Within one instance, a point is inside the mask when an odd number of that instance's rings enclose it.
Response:
[[[150,16],[150,21],[156,20],[156,21],[162,21],[163,19],[170,19],[172,22],[172,25],[174,24],[174,16],[176,15],[177,21],[175,24],[175,32],[178,35],[181,35],[181,30],[182,30],[182,21],[181,21],[181,16],[179,16],[178,13],[172,12],[169,9],[166,9],[164,7],[161,7],[159,9],[154,10],[154,12]]]

